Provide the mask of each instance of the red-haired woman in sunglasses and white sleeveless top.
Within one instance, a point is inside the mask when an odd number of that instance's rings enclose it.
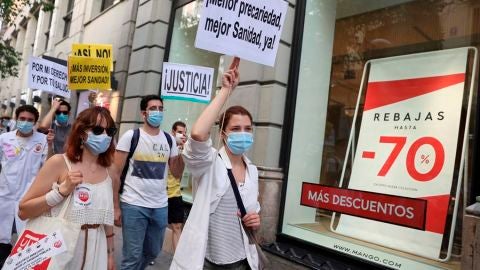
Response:
[[[82,231],[66,269],[115,269],[110,177],[115,172],[111,169],[115,133],[108,110],[95,107],[80,113],[65,154],[48,159],[20,202],[21,219],[57,216],[65,198],[73,196],[66,218],[81,224]]]

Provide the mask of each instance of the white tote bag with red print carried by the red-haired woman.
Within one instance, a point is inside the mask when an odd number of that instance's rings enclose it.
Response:
[[[65,155],[63,157],[65,159],[65,163],[67,164],[67,168],[70,171],[71,170],[70,162],[65,157]],[[46,241],[46,238],[51,237],[54,233],[61,234],[61,238],[63,238],[64,241],[58,242],[58,243],[59,245],[64,244],[66,250],[58,255],[47,258],[43,262],[36,263],[33,265],[22,264],[22,265],[14,266],[14,265],[11,265],[13,260],[9,257],[5,261],[5,266],[3,269],[65,270],[69,268],[69,264],[74,256],[75,247],[77,245],[77,240],[81,231],[80,224],[70,222],[66,219],[67,209],[72,200],[72,194],[70,194],[65,199],[58,216],[55,216],[55,217],[39,216],[27,221],[25,230],[19,236],[17,243],[15,244],[15,247],[12,250],[12,254],[10,254],[10,257],[15,255],[14,252],[20,251],[21,249],[21,250],[27,251],[25,254],[22,254],[22,256],[24,257],[28,256],[29,262],[38,261],[42,257],[45,257],[45,254],[36,252],[36,248],[38,248],[39,246],[38,243],[40,241]]]

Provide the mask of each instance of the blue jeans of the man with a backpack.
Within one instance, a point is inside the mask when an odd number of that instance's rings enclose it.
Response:
[[[121,270],[143,270],[163,245],[168,207],[146,208],[122,202],[123,259]]]

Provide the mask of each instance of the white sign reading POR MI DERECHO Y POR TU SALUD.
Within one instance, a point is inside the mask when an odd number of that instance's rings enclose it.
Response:
[[[67,67],[37,57],[30,57],[28,87],[70,98]]]

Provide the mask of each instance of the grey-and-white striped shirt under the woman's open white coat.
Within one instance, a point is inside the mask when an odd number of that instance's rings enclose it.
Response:
[[[208,243],[205,257],[215,264],[230,264],[247,257],[243,245],[237,201],[231,186],[210,214]]]

